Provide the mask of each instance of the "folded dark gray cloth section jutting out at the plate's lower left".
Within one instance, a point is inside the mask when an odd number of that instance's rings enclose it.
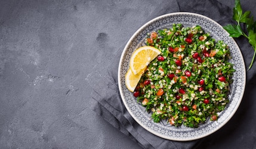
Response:
[[[110,76],[102,76],[99,73],[92,77],[97,77],[94,82],[94,92],[92,92],[94,100],[98,101],[98,105],[94,107],[94,111],[100,114],[107,122],[118,128],[125,135],[131,136],[143,148],[191,148],[196,141],[177,142],[169,141],[151,134],[138,125],[131,117],[122,103],[118,91],[118,82]],[[92,78],[88,77],[89,80]],[[108,80],[108,81],[106,81]],[[102,91],[103,87],[106,91]]]

